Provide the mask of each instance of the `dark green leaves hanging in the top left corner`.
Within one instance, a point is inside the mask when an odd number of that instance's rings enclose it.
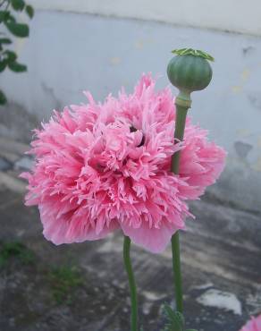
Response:
[[[9,68],[13,72],[26,72],[27,66],[17,61],[17,55],[9,49],[13,43],[10,35],[17,38],[29,37],[29,26],[17,21],[15,13],[26,13],[29,19],[34,15],[34,9],[24,0],[0,0],[0,26],[5,27],[6,32],[0,32],[0,72]],[[6,103],[4,92],[0,90],[0,105]]]

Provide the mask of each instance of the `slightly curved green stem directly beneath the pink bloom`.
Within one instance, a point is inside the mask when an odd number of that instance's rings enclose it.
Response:
[[[123,260],[128,274],[129,286],[131,292],[131,331],[138,331],[138,300],[135,278],[131,267],[131,239],[124,235],[123,242]]]

